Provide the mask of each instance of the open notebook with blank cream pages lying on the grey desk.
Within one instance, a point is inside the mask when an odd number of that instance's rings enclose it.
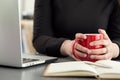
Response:
[[[95,63],[87,61],[52,63],[46,67],[43,76],[81,76],[98,79],[120,79],[120,62],[99,60]]]

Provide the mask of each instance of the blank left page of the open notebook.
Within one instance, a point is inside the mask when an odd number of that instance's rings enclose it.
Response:
[[[70,71],[89,71],[97,73],[94,68],[81,61],[70,61],[62,63],[52,63],[47,69],[47,73],[70,72]]]

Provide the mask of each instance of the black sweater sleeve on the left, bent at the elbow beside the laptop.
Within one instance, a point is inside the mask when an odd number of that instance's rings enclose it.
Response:
[[[35,0],[33,46],[39,53],[61,57],[64,38],[55,38],[52,29],[52,0]]]

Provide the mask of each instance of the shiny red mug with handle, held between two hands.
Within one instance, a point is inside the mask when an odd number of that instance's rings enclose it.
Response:
[[[87,54],[87,56],[85,58],[80,57],[79,55],[77,55],[75,53],[75,45],[76,43],[81,44],[82,46],[88,48],[88,49],[99,49],[99,48],[103,48],[103,45],[98,45],[98,46],[90,46],[90,42],[96,41],[96,40],[102,40],[103,39],[103,35],[102,34],[85,34],[86,35],[86,39],[82,39],[82,38],[76,38],[75,42],[73,43],[73,47],[72,47],[72,52],[73,55],[77,58],[80,59],[82,61],[91,61],[91,62],[95,62],[97,61],[96,59],[91,59],[90,58],[90,54]]]

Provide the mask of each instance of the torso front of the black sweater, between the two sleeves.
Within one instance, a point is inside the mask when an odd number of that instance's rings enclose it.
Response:
[[[56,37],[107,29],[115,0],[53,0],[52,27]]]

